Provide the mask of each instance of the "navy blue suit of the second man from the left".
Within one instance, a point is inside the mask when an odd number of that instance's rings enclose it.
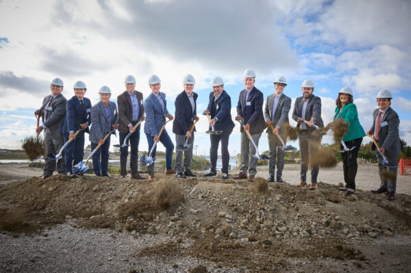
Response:
[[[91,101],[83,98],[83,105],[80,103],[77,96],[73,96],[66,103],[66,118],[62,126],[64,142],[69,140],[69,132],[75,133],[80,127],[80,123],[88,122],[91,124],[90,118]],[[81,131],[66,148],[64,149],[64,161],[66,164],[66,172],[72,172],[72,164],[77,164],[83,160],[84,157],[84,132],[88,132],[88,128]],[[74,162],[73,162],[74,160]]]

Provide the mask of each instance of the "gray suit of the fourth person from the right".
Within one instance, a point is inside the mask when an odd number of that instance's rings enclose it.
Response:
[[[279,127],[279,135],[286,143],[287,133],[284,130],[284,122],[288,123],[288,112],[290,112],[291,99],[284,93],[279,96],[277,106],[275,107],[275,112],[273,113],[273,103],[275,99],[275,94],[271,94],[267,97],[266,105],[264,108],[264,120],[272,121],[273,127]],[[279,148],[282,146],[281,141],[273,133],[273,130],[269,127],[267,129],[269,138],[269,148],[270,148],[270,161],[269,161],[269,172],[270,177],[274,177],[275,163],[277,161],[277,180],[282,177],[282,170],[284,168],[284,150]]]

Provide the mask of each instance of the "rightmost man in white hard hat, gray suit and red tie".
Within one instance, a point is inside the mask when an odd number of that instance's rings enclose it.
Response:
[[[379,91],[377,94],[378,108],[373,112],[373,125],[367,132],[369,135],[374,135],[375,140],[379,144],[379,150],[375,144],[372,146],[372,150],[377,153],[379,179],[381,184],[378,190],[371,190],[373,194],[382,194],[388,192],[387,199],[395,200],[395,190],[397,188],[397,169],[398,169],[398,156],[403,150],[403,144],[399,139],[399,117],[397,112],[391,107],[391,99],[393,95],[388,90]],[[382,162],[381,152],[388,160],[388,164],[384,166]],[[395,174],[393,179],[388,179],[382,175],[382,171],[388,168]]]

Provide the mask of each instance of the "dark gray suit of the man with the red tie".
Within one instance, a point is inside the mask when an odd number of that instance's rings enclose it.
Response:
[[[373,126],[371,126],[371,131],[374,131],[375,127],[375,119],[377,118],[379,109],[375,109],[373,112]],[[387,125],[381,126],[387,122]],[[393,108],[388,107],[384,116],[380,121],[379,131],[378,133],[378,144],[380,147],[385,148],[386,152],[384,155],[388,160],[388,166],[391,171],[395,173],[395,179],[393,181],[387,180],[381,176],[382,170],[384,170],[384,166],[378,163],[379,168],[379,179],[381,180],[381,185],[383,189],[388,190],[388,192],[395,192],[397,187],[397,169],[398,169],[398,156],[402,150],[401,140],[399,139],[399,117],[397,112],[393,110]],[[377,148],[373,144],[372,150],[377,152]],[[377,157],[381,159],[379,153],[377,153]],[[380,160],[379,160],[380,161]]]

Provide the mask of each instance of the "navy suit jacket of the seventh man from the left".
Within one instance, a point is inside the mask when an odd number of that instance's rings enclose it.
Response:
[[[225,90],[221,92],[216,105],[214,103],[214,92],[210,92],[207,109],[210,111],[211,118],[218,119],[216,125],[214,126],[214,130],[233,131],[235,125],[231,116],[231,98]]]

